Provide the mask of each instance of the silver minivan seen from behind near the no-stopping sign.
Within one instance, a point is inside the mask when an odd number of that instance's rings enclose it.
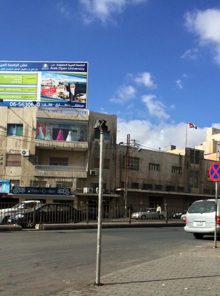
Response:
[[[197,200],[186,213],[184,230],[195,238],[213,235],[215,232],[215,200]],[[217,235],[220,235],[220,200],[217,202]]]

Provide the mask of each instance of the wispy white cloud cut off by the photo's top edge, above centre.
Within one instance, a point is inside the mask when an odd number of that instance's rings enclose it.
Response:
[[[85,22],[98,18],[101,22],[112,20],[112,15],[122,13],[127,5],[139,4],[147,0],[80,0],[85,11]]]

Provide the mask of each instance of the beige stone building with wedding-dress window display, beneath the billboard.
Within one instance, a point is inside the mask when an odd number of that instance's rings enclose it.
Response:
[[[1,202],[43,200],[85,203],[97,200],[100,133],[106,120],[103,199],[115,195],[117,117],[73,108],[1,107],[1,180],[10,193]]]

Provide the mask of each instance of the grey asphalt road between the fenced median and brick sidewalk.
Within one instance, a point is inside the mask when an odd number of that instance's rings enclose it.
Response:
[[[183,227],[103,229],[101,276],[210,244]],[[96,251],[96,229],[2,232],[0,296],[49,296],[95,281]]]

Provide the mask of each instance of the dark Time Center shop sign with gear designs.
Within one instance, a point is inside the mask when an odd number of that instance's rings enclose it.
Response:
[[[13,194],[44,194],[44,195],[70,195],[70,188],[48,188],[48,187],[22,187],[13,186]]]

